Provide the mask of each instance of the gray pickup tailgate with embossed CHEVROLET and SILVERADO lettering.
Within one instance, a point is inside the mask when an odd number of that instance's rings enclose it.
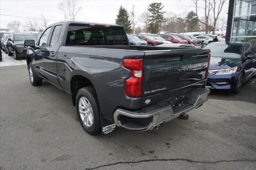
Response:
[[[172,98],[186,99],[204,87],[208,69],[208,49],[144,51],[142,107]],[[182,100],[183,100],[182,99]]]

